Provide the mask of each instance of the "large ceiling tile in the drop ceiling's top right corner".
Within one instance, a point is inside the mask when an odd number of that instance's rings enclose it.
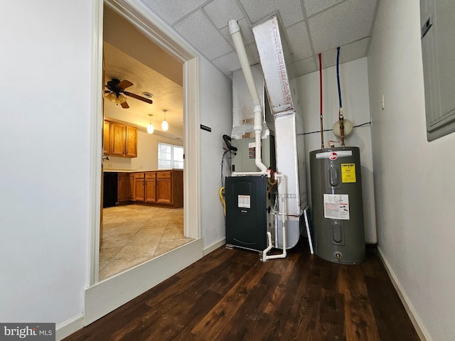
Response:
[[[375,7],[376,0],[348,0],[309,18],[314,52],[368,37]]]

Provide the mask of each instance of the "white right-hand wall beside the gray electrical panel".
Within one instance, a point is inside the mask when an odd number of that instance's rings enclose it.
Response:
[[[376,20],[368,80],[378,244],[426,337],[455,340],[455,134],[427,142],[419,1],[382,0]]]

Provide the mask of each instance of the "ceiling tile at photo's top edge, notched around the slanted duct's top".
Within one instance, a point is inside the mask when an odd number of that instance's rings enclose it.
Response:
[[[300,0],[240,0],[240,4],[252,23],[256,23],[276,11],[279,11],[284,27],[304,20]]]

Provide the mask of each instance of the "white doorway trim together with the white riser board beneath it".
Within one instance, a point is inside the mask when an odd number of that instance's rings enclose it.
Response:
[[[106,315],[132,298],[176,274],[203,256],[200,238],[200,153],[198,115],[198,53],[154,16],[141,4],[134,1],[94,1],[94,56],[92,74],[92,168],[90,177],[91,244],[90,284],[85,291],[85,325]],[[101,218],[101,172],[102,172],[102,19],[106,4],[119,15],[127,18],[137,30],[156,42],[183,63],[183,121],[184,145],[186,149],[183,187],[185,208],[183,224],[185,235],[193,242],[144,264],[135,266],[117,276],[98,280],[99,242]]]

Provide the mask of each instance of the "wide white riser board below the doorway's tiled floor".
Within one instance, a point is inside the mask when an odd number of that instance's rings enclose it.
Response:
[[[203,241],[196,239],[156,259],[107,278],[85,290],[84,325],[89,325],[177,274],[203,257]]]

